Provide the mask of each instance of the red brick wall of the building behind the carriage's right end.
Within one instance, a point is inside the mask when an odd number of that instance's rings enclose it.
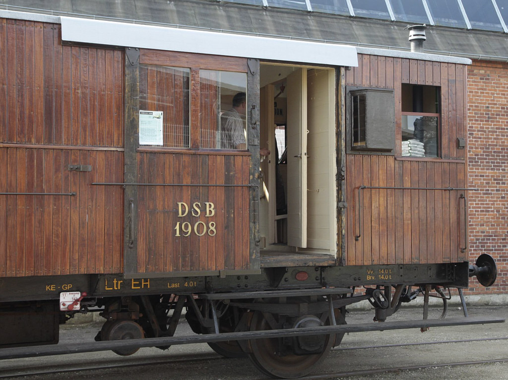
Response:
[[[508,64],[473,61],[468,68],[469,260],[494,257],[497,280],[475,294],[508,292]],[[480,289],[476,289],[480,288]]]

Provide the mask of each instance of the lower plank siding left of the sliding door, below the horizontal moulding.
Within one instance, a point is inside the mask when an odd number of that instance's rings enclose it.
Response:
[[[118,273],[122,268],[122,152],[0,148],[0,276]],[[68,171],[70,162],[91,172]]]

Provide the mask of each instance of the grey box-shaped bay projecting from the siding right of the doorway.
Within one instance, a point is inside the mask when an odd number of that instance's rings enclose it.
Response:
[[[348,87],[348,152],[393,154],[395,100],[392,89]]]

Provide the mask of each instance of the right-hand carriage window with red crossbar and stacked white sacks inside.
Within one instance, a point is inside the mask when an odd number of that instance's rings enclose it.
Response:
[[[439,156],[439,87],[402,84],[402,155]]]

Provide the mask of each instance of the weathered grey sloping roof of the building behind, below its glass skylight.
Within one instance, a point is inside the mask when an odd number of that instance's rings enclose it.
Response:
[[[205,0],[0,0],[0,8],[61,16],[120,19],[263,36],[409,49],[407,23]],[[500,32],[429,26],[429,53],[508,61]]]

